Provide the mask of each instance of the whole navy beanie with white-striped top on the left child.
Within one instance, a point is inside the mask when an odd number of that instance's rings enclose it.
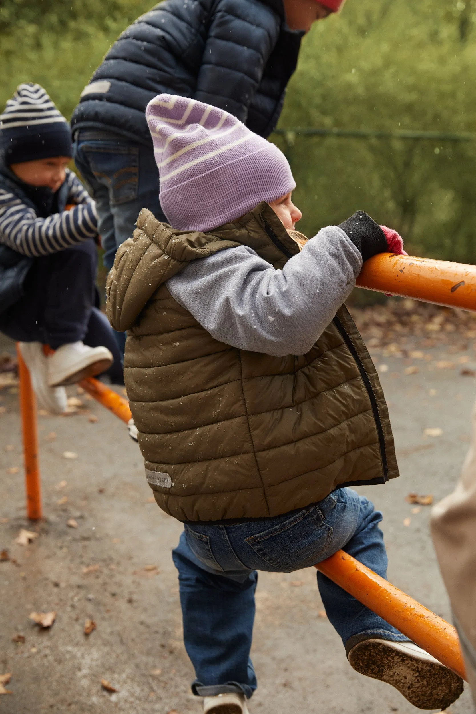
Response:
[[[72,156],[71,129],[39,84],[19,84],[0,114],[0,156],[4,163]]]

